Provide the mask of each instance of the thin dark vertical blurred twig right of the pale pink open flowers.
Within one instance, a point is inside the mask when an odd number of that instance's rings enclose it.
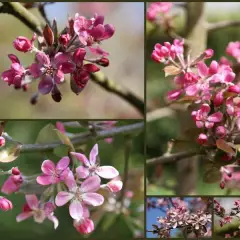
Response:
[[[124,196],[126,192],[126,187],[127,187],[127,180],[128,180],[128,170],[129,170],[129,157],[131,153],[131,148],[132,148],[132,139],[130,136],[126,136],[125,139],[125,151],[124,151],[124,174],[123,174],[123,187],[121,190],[121,195],[119,197],[119,200],[121,202],[121,208],[124,207]]]

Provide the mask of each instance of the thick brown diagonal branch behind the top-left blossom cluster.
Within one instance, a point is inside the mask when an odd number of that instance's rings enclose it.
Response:
[[[41,21],[37,19],[30,11],[28,11],[22,4],[17,2],[3,2],[2,4],[3,5],[0,7],[0,13],[7,13],[15,16],[32,31],[36,32],[40,36],[42,35],[42,28],[44,27],[44,24],[41,23]],[[136,96],[131,91],[122,88],[112,80],[109,80],[102,72],[91,74],[91,79],[106,91],[116,94],[123,100],[130,103],[142,115],[144,115],[144,99]]]

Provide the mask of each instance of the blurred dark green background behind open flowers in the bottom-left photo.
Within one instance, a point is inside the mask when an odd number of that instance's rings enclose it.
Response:
[[[119,121],[117,126],[131,124],[136,121]],[[47,124],[55,125],[56,121],[8,121],[5,127],[7,132],[15,141],[23,144],[35,143],[43,140],[39,139],[40,130]],[[67,128],[69,132],[76,132],[76,129]],[[84,129],[80,130],[84,131]],[[86,131],[86,130],[85,130]],[[79,130],[77,131],[79,132]],[[48,141],[51,138],[51,133],[48,132]],[[43,135],[42,135],[43,136]],[[129,207],[128,215],[116,215],[114,212],[106,212],[103,210],[105,205],[94,208],[94,221],[96,231],[91,235],[93,238],[114,238],[115,236],[122,238],[132,238],[142,236],[143,233],[143,161],[144,161],[144,135],[143,133],[132,135],[132,151],[129,159],[129,175],[126,190],[134,192],[132,202]],[[124,170],[124,136],[116,136],[111,144],[104,140],[98,141],[99,156],[101,165],[112,165],[119,170],[122,176]],[[93,147],[94,142],[81,145],[81,151],[89,155],[89,151]],[[77,149],[77,148],[76,148]],[[61,155],[62,156],[62,155]],[[12,163],[0,163],[0,169],[9,170],[11,167],[18,166],[21,172],[28,176],[41,172],[41,163],[45,159],[51,159],[57,162],[60,156],[49,153],[22,153]],[[0,177],[0,186],[6,178]],[[103,181],[104,182],[104,181]],[[4,196],[4,194],[2,194]],[[0,236],[1,239],[79,239],[81,236],[73,227],[72,219],[69,216],[68,206],[56,209],[55,215],[59,219],[59,227],[53,229],[52,222],[45,220],[43,224],[38,224],[32,218],[17,223],[16,216],[21,212],[22,206],[25,203],[24,195],[21,193],[7,196],[13,202],[14,208],[9,212],[0,211]],[[107,202],[107,199],[105,199]]]

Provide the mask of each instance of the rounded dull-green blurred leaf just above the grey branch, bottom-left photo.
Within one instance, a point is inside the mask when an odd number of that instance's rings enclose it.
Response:
[[[38,134],[36,143],[51,143],[59,140],[55,129],[56,127],[51,123],[44,126]]]

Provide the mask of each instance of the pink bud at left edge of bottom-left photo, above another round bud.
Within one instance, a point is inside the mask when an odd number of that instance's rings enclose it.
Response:
[[[11,194],[17,192],[23,183],[22,175],[11,175],[8,179],[4,182],[1,191],[5,194]]]

